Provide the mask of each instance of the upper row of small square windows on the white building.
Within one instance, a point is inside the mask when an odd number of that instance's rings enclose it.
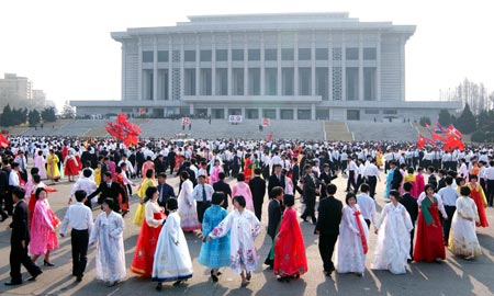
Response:
[[[228,60],[228,49],[216,49],[216,61],[227,61]],[[232,60],[243,61],[244,60],[244,49],[232,49]],[[359,59],[359,47],[347,47],[345,48],[345,55],[347,60],[358,60]],[[294,60],[295,50],[293,48],[281,48],[281,60]],[[343,52],[340,47],[334,47],[332,49],[332,59],[341,60]],[[364,47],[362,50],[362,58],[364,60],[375,60],[377,49],[375,47]],[[199,53],[200,61],[212,61],[213,52],[211,49],[202,49]],[[260,49],[248,49],[247,60],[260,60],[261,52]],[[299,60],[311,60],[312,50],[311,48],[299,48]],[[316,60],[328,60],[329,53],[328,48],[315,48],[315,59]],[[197,61],[195,50],[183,50],[184,61]],[[278,49],[277,48],[266,48],[265,49],[265,60],[278,60]],[[153,62],[154,53],[151,50],[143,52],[143,62]],[[158,50],[158,62],[167,62],[168,50]]]

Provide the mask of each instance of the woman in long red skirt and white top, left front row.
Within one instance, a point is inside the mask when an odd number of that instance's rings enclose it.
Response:
[[[145,206],[145,219],[141,227],[139,237],[135,247],[134,260],[131,271],[145,277],[151,277],[153,263],[155,260],[156,243],[166,215],[158,205],[158,189],[147,187],[146,197],[149,201]]]

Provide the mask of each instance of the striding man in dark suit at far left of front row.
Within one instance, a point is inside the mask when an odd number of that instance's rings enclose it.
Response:
[[[35,281],[43,272],[27,255],[27,247],[30,244],[30,228],[27,225],[27,204],[24,201],[25,192],[21,187],[15,187],[12,191],[12,197],[15,203],[14,213],[12,216],[12,235],[10,237],[10,282],[7,286],[22,284],[21,264],[31,274],[27,281]]]

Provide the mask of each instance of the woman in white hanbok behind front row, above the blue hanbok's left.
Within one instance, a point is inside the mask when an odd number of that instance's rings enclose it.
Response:
[[[182,172],[180,179],[182,180],[182,186],[178,196],[178,214],[180,215],[182,230],[193,231],[201,229],[195,200],[192,196],[193,184],[192,181],[189,180],[189,173]]]

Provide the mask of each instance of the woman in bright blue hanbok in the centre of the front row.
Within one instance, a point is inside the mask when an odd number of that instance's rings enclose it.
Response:
[[[228,212],[222,207],[224,200],[223,192],[213,193],[212,205],[204,212],[202,221],[203,243],[199,253],[199,263],[211,269],[213,282],[217,282],[217,276],[221,275],[220,267],[229,265],[229,234],[211,241],[205,239],[228,215]]]

